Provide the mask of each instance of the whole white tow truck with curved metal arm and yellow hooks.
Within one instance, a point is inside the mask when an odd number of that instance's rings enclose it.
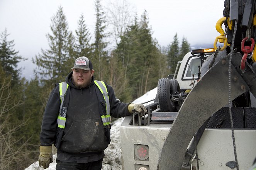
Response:
[[[158,81],[120,126],[122,170],[248,170],[256,157],[255,0],[225,0],[214,48]],[[225,31],[222,24],[225,25]],[[217,42],[223,47],[217,47]]]

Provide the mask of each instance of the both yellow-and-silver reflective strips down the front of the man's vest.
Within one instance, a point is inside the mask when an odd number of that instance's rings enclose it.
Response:
[[[108,95],[108,92],[107,92],[107,87],[106,87],[105,83],[102,82],[102,81],[95,80],[94,83],[100,89],[100,92],[102,93],[102,95],[104,97],[104,100],[106,102],[106,113],[107,113],[107,115],[103,114],[101,116],[103,125],[106,126],[106,125],[110,124],[110,104],[109,104],[109,95]],[[68,108],[62,107],[62,105],[63,105],[63,101],[64,101],[64,97],[65,97],[67,89],[68,89],[68,84],[66,82],[59,83],[59,95],[60,95],[60,99],[61,99],[61,105],[59,107],[59,116],[58,116],[58,119],[57,119],[57,123],[58,123],[59,128],[65,128],[66,112],[67,112]]]

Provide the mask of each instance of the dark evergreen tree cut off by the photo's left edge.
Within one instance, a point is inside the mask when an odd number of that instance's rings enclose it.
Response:
[[[7,29],[1,33],[0,37],[0,64],[7,75],[12,77],[12,84],[19,82],[19,73],[21,68],[17,68],[17,64],[26,60],[25,58],[18,55],[18,51],[14,50],[14,40],[8,41]]]

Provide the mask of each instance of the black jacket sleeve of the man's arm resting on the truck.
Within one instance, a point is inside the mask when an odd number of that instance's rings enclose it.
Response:
[[[130,103],[120,102],[120,100],[118,100],[115,97],[113,88],[110,85],[107,85],[107,83],[105,83],[105,84],[106,84],[108,94],[109,94],[110,115],[115,118],[120,118],[120,117],[125,117],[128,115],[131,115],[131,113],[129,113],[129,111],[128,111],[128,105]]]

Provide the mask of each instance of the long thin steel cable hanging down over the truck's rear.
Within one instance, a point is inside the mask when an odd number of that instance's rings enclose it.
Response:
[[[237,31],[237,20],[234,20],[234,21],[235,21],[235,26],[234,26],[234,33],[233,33],[233,37],[232,37],[231,54],[230,54],[230,57],[229,57],[229,117],[230,117],[230,123],[231,123],[232,140],[233,140],[234,154],[235,154],[235,160],[236,160],[236,169],[239,170],[238,161],[237,161],[237,154],[236,154],[236,142],[235,142],[235,135],[234,135],[233,118],[232,118],[232,112],[231,112],[231,107],[232,107],[232,101],[231,101],[231,59],[232,59],[232,53],[233,53],[233,49],[234,49],[234,42],[235,42],[236,31]]]

